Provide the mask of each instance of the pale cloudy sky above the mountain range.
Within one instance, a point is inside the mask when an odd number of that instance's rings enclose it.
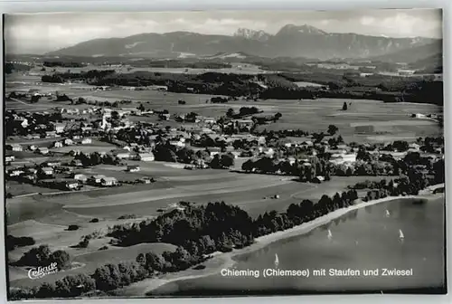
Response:
[[[442,37],[439,9],[9,14],[5,48],[40,54],[96,38],[175,31],[231,35],[249,28],[275,34],[286,24],[309,24],[329,33]]]

